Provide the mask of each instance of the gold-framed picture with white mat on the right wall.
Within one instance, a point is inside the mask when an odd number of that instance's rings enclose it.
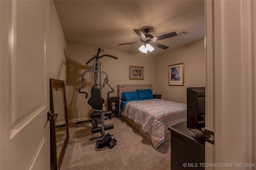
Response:
[[[184,63],[169,66],[169,86],[184,86]]]

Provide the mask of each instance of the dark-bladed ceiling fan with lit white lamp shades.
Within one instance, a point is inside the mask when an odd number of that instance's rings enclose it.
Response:
[[[145,28],[144,31],[145,31],[146,34],[144,34],[140,29],[134,29],[134,32],[140,37],[141,42],[122,43],[122,44],[119,44],[119,45],[144,43],[144,45],[142,45],[139,48],[138,52],[141,51],[143,53],[147,53],[148,51],[150,51],[150,52],[153,51],[154,50],[153,47],[158,47],[158,48],[164,49],[164,50],[168,49],[169,47],[167,47],[166,45],[156,43],[155,41],[177,36],[176,32],[171,32],[171,33],[167,33],[167,34],[164,34],[164,35],[160,35],[158,37],[153,37],[153,35],[148,34],[149,31],[150,31],[150,28]]]

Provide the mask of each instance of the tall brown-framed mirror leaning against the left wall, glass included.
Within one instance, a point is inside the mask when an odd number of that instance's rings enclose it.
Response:
[[[63,80],[50,79],[51,170],[59,170],[68,145],[68,113]]]

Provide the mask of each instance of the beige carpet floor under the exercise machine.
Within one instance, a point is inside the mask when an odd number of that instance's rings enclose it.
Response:
[[[170,170],[170,141],[154,149],[151,141],[122,118],[112,117],[105,125],[114,124],[112,134],[117,145],[112,149],[95,150],[100,133],[91,133],[92,123],[69,123],[70,139],[60,170]]]

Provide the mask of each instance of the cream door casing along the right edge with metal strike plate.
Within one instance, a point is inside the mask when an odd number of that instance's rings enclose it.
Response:
[[[206,129],[214,131],[214,145],[206,143],[205,169],[254,170],[256,1],[205,3]]]

